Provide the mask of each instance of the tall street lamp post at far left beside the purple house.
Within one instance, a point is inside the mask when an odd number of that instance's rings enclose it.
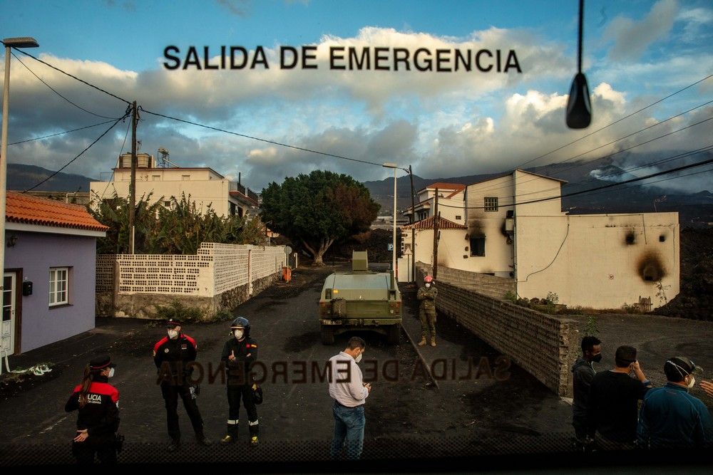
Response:
[[[35,38],[23,36],[21,38],[5,38],[5,82],[2,89],[2,145],[0,145],[0,269],[3,278],[0,281],[0,291],[4,290],[5,283],[5,201],[7,188],[7,121],[10,115],[10,48],[37,48],[39,44]]]

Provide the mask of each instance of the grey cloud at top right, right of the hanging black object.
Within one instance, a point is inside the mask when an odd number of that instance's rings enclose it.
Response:
[[[677,11],[676,0],[659,0],[640,21],[617,16],[604,33],[605,38],[614,41],[609,51],[610,58],[614,61],[639,58],[651,43],[666,38]]]

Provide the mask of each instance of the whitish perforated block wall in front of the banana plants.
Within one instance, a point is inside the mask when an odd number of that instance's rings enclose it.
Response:
[[[180,301],[204,316],[232,310],[277,280],[283,246],[202,243],[195,255],[102,254],[96,259],[96,312],[153,318]]]

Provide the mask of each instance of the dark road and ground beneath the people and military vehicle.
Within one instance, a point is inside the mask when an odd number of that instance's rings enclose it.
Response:
[[[420,323],[413,284],[401,286],[401,345],[386,345],[384,338],[371,332],[337,335],[334,345],[322,345],[317,301],[322,281],[333,270],[299,268],[291,282],[275,283],[235,310],[250,319],[251,335],[265,365],[265,402],[258,407],[260,447],[248,447],[244,423],[236,444],[199,447],[179,403],[184,447],[178,454],[168,454],[165,409],[151,358],[153,344],[163,338],[165,328],[150,320],[98,318],[94,330],[10,358],[12,369],[51,363],[53,370],[37,377],[8,378],[4,372],[0,465],[73,463],[69,447],[76,414],[66,414],[64,404],[80,382],[86,362],[98,353],[111,353],[118,365],[111,382],[121,395],[120,433],[126,437],[120,463],[237,462],[255,471],[329,471],[333,468],[327,461],[332,404],[320,370],[353,334],[366,340],[361,367],[374,387],[366,402],[361,463],[367,470],[453,471],[456,462],[471,469],[520,463],[526,468],[538,462],[552,468],[570,467],[570,461],[581,459],[572,444],[568,401],[516,365],[508,365],[505,355],[443,316],[438,318],[436,347],[415,345]],[[622,344],[639,348],[641,365],[655,385],[662,384],[663,362],[672,355],[687,355],[704,368],[713,368],[710,323],[650,315],[597,315],[596,319],[604,355],[599,370],[613,365],[614,350]],[[580,320],[585,325],[586,317]],[[217,442],[225,431],[227,399],[220,377],[211,381],[209,375],[217,374],[222,345],[230,338],[228,323],[184,325],[183,330],[198,341],[204,376],[198,406],[205,433]],[[700,390],[694,390],[694,395],[711,406],[713,401]],[[245,419],[242,410],[241,422]],[[600,454],[597,461],[602,460],[606,457]],[[635,458],[626,454],[625,460]],[[647,460],[653,460],[650,454]]]

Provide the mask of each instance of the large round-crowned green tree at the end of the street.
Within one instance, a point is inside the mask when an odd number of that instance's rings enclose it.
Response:
[[[379,204],[346,174],[315,170],[270,183],[262,190],[260,217],[270,229],[301,242],[322,266],[335,240],[369,229]]]

